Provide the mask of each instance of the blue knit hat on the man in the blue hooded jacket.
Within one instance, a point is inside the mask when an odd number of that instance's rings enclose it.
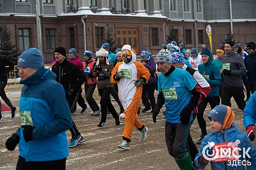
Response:
[[[36,48],[29,48],[19,56],[18,66],[40,69],[43,67],[43,55]]]

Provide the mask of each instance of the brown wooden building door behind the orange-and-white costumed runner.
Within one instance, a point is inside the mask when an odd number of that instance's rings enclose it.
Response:
[[[122,49],[124,45],[129,44],[138,53],[138,29],[117,28],[116,38],[118,48]]]

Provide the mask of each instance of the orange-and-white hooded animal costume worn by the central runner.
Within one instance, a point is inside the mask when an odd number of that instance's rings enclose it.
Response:
[[[136,52],[131,49],[130,45],[124,45],[122,51],[129,51],[132,59],[128,64],[123,61],[115,66],[111,72],[111,82],[113,84],[119,82],[118,96],[125,109],[126,121],[123,139],[130,142],[133,127],[135,126],[139,131],[144,128],[144,125],[137,115],[141,102],[142,85],[135,86],[134,83],[141,78],[143,78],[144,83],[146,83],[150,78],[150,73],[140,62],[136,62]],[[117,81],[113,76],[119,71],[124,71],[125,76]]]

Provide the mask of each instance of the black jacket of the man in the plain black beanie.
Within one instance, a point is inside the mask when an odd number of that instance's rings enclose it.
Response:
[[[86,79],[80,68],[68,61],[66,58],[61,64],[57,62],[52,67],[52,71],[57,75],[56,81],[63,85],[65,91],[72,87],[76,92],[78,92]]]

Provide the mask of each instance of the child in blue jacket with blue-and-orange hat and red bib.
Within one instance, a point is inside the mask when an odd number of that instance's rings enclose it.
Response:
[[[204,169],[211,161],[212,170],[244,170],[247,164],[247,170],[256,170],[256,151],[250,139],[243,132],[238,131],[238,127],[234,122],[235,114],[229,106],[217,105],[212,109],[208,118],[211,120],[212,134],[203,138],[200,151],[196,155],[194,163],[198,168]],[[217,149],[217,147],[220,147]],[[237,148],[235,157],[240,157],[234,160],[225,157],[225,154],[218,152],[221,148],[230,147]],[[243,150],[246,151],[243,153]],[[222,152],[223,153],[223,152]],[[244,156],[243,156],[244,155]],[[232,157],[232,156],[231,156]],[[244,160],[244,158],[246,160]]]

